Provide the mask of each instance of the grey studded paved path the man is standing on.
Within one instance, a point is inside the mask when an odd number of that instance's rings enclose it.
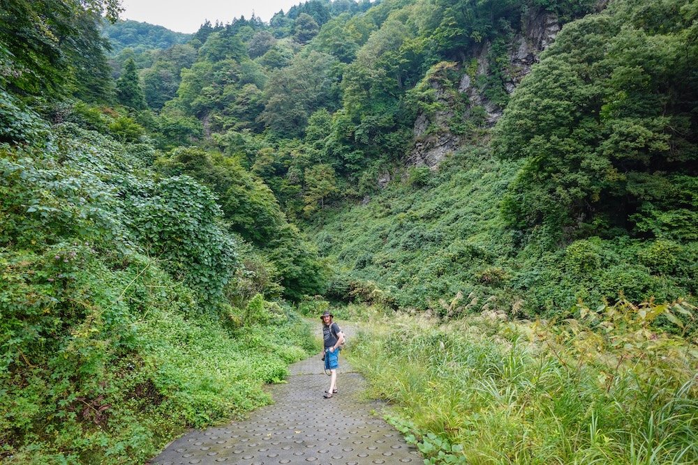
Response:
[[[314,322],[315,323],[315,322]],[[318,325],[319,326],[319,325]],[[346,328],[348,334],[351,329]],[[364,379],[340,358],[339,392],[319,356],[289,367],[288,383],[271,386],[274,404],[230,425],[194,431],[174,441],[153,464],[421,464],[419,452],[359,398]]]

